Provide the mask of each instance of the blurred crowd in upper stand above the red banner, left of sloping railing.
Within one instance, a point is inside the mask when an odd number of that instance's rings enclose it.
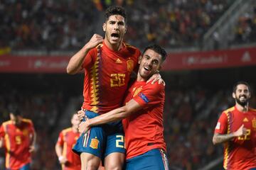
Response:
[[[126,42],[144,47],[199,45],[230,6],[229,0],[1,0],[0,47],[13,50],[78,50],[102,31],[110,5],[127,9]],[[99,23],[100,22],[100,23]]]

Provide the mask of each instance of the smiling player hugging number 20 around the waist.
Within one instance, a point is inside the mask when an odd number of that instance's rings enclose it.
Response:
[[[139,60],[137,81],[130,86],[124,100],[125,106],[88,118],[79,125],[80,132],[90,134],[90,127],[124,119],[126,169],[169,169],[163,133],[164,85],[146,84],[152,74],[159,72],[165,58],[166,52],[159,45],[146,47]],[[117,145],[122,136],[119,139]]]

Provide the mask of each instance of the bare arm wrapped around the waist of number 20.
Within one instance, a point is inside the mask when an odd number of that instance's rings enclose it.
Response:
[[[102,125],[105,123],[122,120],[123,118],[127,118],[129,115],[136,113],[140,109],[142,109],[142,106],[140,106],[137,101],[132,99],[121,108],[114,109],[113,111],[99,115],[95,118],[87,119],[85,122],[80,123],[79,132],[87,132],[90,127],[95,125]]]

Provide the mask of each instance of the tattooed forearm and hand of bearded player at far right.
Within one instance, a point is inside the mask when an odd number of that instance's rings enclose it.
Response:
[[[232,140],[234,137],[241,137],[242,135],[246,135],[246,128],[244,128],[244,125],[241,125],[237,131],[230,134],[220,135],[219,133],[215,133],[213,135],[213,144],[216,145],[227,142]]]

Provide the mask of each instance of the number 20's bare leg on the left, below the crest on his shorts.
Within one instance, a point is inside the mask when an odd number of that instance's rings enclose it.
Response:
[[[97,170],[100,166],[101,159],[93,154],[82,152],[81,158],[81,169],[84,170]]]

